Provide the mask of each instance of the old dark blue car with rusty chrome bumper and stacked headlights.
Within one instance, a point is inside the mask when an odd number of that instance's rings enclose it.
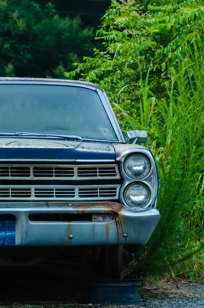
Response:
[[[95,84],[0,78],[0,266],[64,260],[122,278],[160,218],[145,141],[125,142]]]

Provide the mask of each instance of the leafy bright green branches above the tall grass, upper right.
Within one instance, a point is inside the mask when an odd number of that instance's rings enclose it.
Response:
[[[85,62],[66,76],[80,73],[83,80],[98,83],[113,103],[128,85],[119,103],[135,117],[140,76],[145,79],[152,63],[150,88],[155,95],[165,91],[161,77],[169,81],[168,69],[186,55],[186,46],[198,46],[198,40],[204,40],[204,7],[202,0],[152,1],[148,5],[146,1],[139,5],[134,0],[121,2],[112,2],[97,31],[105,51],[95,49],[94,57],[84,57]]]

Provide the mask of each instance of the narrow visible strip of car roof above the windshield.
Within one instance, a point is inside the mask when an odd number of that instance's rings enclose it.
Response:
[[[89,87],[94,87],[98,88],[101,90],[101,88],[91,82],[86,82],[86,81],[80,81],[80,80],[67,80],[67,79],[51,79],[51,78],[17,78],[17,77],[0,77],[0,83],[1,82],[36,82],[39,84],[45,84],[45,83],[67,83],[67,84],[75,84],[75,85],[83,85],[83,86],[89,86]]]

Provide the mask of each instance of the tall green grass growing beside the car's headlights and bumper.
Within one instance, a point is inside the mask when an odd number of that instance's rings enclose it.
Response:
[[[118,106],[132,129],[148,130],[161,179],[161,220],[130,267],[134,275],[204,267],[204,61],[197,52],[188,54],[178,62],[177,72],[170,69],[166,99],[155,102],[147,74],[141,84],[140,117],[135,120]]]

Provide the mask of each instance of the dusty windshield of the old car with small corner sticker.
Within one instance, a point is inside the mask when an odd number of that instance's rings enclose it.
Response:
[[[20,131],[118,140],[95,90],[3,84],[0,87],[0,132]]]

